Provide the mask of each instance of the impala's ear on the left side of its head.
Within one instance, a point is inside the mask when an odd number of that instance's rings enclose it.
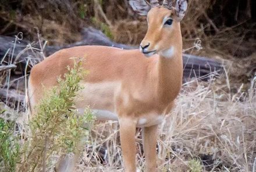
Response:
[[[130,0],[129,4],[135,12],[142,16],[147,16],[148,11],[151,9],[150,4],[144,0]]]

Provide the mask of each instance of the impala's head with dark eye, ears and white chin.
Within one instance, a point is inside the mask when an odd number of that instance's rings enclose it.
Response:
[[[171,57],[174,46],[181,44],[180,21],[187,10],[186,0],[177,0],[175,7],[171,0],[159,5],[157,0],[130,0],[131,8],[138,14],[147,15],[148,31],[140,43],[140,52],[150,57],[155,53]]]

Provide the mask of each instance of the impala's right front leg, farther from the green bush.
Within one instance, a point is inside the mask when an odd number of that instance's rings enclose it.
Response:
[[[147,172],[157,171],[157,134],[158,125],[143,128],[143,149]]]

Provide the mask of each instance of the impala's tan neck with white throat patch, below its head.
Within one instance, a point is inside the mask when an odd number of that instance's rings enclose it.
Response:
[[[182,43],[159,53],[158,94],[163,103],[173,101],[182,86]]]

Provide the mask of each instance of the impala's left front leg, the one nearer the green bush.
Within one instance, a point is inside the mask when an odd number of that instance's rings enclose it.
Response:
[[[120,141],[125,163],[126,172],[136,171],[136,120],[131,118],[120,118]]]

